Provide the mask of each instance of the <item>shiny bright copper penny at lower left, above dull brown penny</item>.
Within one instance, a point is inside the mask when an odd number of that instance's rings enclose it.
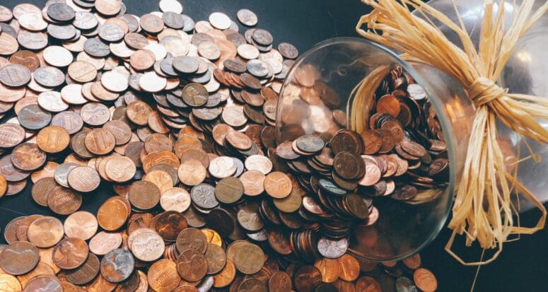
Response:
[[[42,217],[30,223],[27,236],[36,247],[52,247],[63,238],[63,223],[54,217]]]

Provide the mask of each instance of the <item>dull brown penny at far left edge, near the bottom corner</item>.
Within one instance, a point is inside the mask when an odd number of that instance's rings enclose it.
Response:
[[[33,270],[40,261],[38,249],[32,243],[17,241],[0,253],[0,268],[11,275],[22,275]]]

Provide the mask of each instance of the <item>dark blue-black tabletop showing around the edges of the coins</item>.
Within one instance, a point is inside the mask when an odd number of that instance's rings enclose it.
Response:
[[[18,3],[29,2],[42,6],[45,0],[0,0],[0,5],[13,8]],[[158,11],[156,0],[124,0],[127,13],[142,15]],[[368,7],[358,0],[193,0],[184,1],[184,13],[194,21],[207,20],[210,13],[221,11],[236,20],[240,8],[249,8],[258,18],[257,27],[265,28],[274,35],[274,45],[291,42],[305,52],[315,43],[330,37],[354,36],[358,18],[368,12]],[[240,25],[240,32],[245,28]],[[42,208],[30,197],[29,183],[16,196],[0,199],[0,228],[17,216],[30,214],[54,215]],[[98,206],[112,194],[108,185],[102,185],[98,192],[86,194],[81,209],[96,212]],[[527,212],[520,218],[522,226],[534,226],[540,214]],[[438,291],[470,291],[476,267],[464,267],[443,250],[450,236],[444,228],[438,238],[421,252],[424,266],[431,269],[438,279]],[[1,243],[4,238],[1,238]],[[548,230],[535,235],[524,235],[517,243],[507,243],[495,262],[482,267],[475,291],[547,291],[548,274],[544,263],[548,259]],[[477,246],[465,248],[463,240],[457,240],[455,251],[465,260],[475,262],[482,251]],[[485,257],[491,253],[486,252]]]

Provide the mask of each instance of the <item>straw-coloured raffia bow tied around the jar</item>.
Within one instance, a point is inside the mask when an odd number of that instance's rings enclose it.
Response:
[[[373,6],[373,11],[360,18],[356,26],[360,35],[403,52],[404,60],[425,62],[441,69],[460,81],[476,106],[462,179],[455,196],[453,219],[449,223],[453,235],[445,250],[462,264],[489,263],[499,256],[509,235],[535,233],[544,228],[547,215],[542,203],[516,179],[517,165],[513,173],[508,173],[497,140],[496,120],[518,134],[546,143],[548,131],[537,119],[548,118],[548,99],[508,93],[495,81],[518,39],[548,11],[548,2],[533,11],[535,1],[524,0],[519,9],[514,10],[511,26],[505,32],[504,9],[498,9],[495,13],[493,2],[485,0],[481,37],[476,49],[460,16],[459,23],[454,23],[420,0],[362,1]],[[500,1],[499,7],[504,2]],[[419,11],[424,18],[412,15],[412,9]],[[442,23],[457,33],[463,48],[450,42],[432,24],[434,22]],[[364,23],[367,24],[367,30],[362,29]],[[533,159],[535,157],[535,153],[530,156]],[[518,211],[511,200],[511,194],[515,191],[523,194],[542,211],[535,227],[515,226],[514,217],[518,216]],[[465,262],[451,250],[455,235],[463,233],[467,245],[477,240],[483,248],[498,250],[489,260]]]

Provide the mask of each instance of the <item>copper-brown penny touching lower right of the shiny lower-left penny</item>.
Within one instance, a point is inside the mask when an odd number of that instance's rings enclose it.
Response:
[[[88,259],[88,245],[80,238],[65,238],[53,249],[53,262],[61,269],[76,269]]]

